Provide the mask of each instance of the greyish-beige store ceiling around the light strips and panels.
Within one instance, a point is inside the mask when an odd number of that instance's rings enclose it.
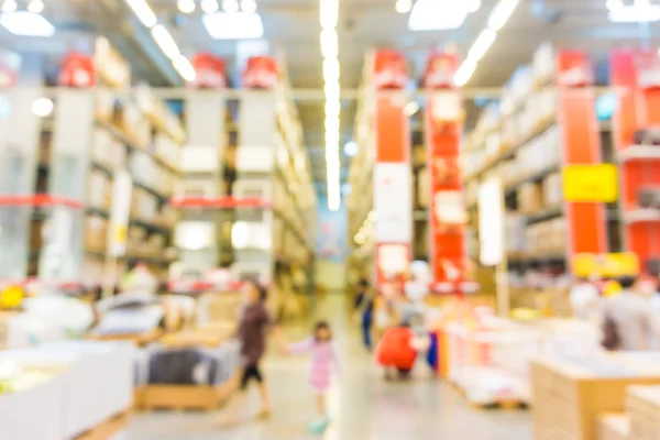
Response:
[[[244,43],[211,40],[201,25],[199,12],[182,15],[176,9],[176,0],[148,1],[158,18],[168,24],[184,53],[211,51],[226,56],[234,72],[238,70],[237,52]],[[432,48],[455,44],[461,54],[466,54],[484,29],[496,1],[482,0],[481,10],[470,14],[458,30],[410,32],[407,29],[407,15],[395,11],[394,0],[340,0],[338,32],[342,88],[354,89],[360,86],[365,53],[374,47],[395,47],[404,52],[410,64],[411,77],[415,78],[411,82],[416,84],[424,70],[426,56]],[[82,35],[98,32],[109,36],[129,58],[139,78],[154,86],[180,85],[180,78],[160,54],[148,33],[132,18],[123,0],[45,2],[46,14],[59,30],[57,37],[45,41],[15,38],[0,30],[0,44],[32,53],[58,53],[85,44]],[[257,0],[257,4],[264,21],[265,40],[271,47],[278,47],[286,54],[293,87],[321,89],[318,0]],[[657,43],[658,34],[656,23],[647,29],[637,24],[610,23],[605,0],[520,0],[468,87],[502,86],[517,66],[530,62],[535,48],[544,41],[551,41],[557,46],[586,50],[604,66],[609,48],[639,44],[639,38],[646,36]],[[605,78],[606,74],[601,76]],[[299,101],[298,107],[315,179],[319,190],[324,193],[323,102]],[[469,114],[474,117],[475,106],[470,102],[468,108]],[[354,111],[354,102],[343,101],[342,143],[352,136]],[[346,164],[348,158],[344,157],[343,166]]]

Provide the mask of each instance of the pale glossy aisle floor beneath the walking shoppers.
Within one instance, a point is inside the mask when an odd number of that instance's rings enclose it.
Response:
[[[256,389],[245,414],[246,422],[218,427],[218,414],[139,414],[131,422],[131,440],[529,440],[530,416],[524,411],[475,410],[449,385],[431,378],[425,365],[408,383],[385,383],[372,358],[360,346],[348,324],[344,301],[331,297],[318,307],[332,322],[342,358],[343,377],[329,397],[333,424],[323,436],[311,436],[307,424],[315,400],[307,386],[308,360],[273,355],[266,373],[274,403],[268,421],[251,419]],[[302,327],[288,328],[292,341],[306,336]]]

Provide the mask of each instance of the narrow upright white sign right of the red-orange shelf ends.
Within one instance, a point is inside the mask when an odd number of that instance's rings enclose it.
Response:
[[[504,209],[502,182],[486,180],[479,188],[480,260],[495,266],[504,258]]]

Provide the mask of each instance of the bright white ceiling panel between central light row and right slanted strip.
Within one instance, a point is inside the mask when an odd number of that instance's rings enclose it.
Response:
[[[408,19],[410,31],[440,31],[460,28],[468,11],[464,0],[418,0]]]

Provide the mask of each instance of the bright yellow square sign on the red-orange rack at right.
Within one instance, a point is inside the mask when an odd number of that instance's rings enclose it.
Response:
[[[614,202],[618,199],[617,168],[613,164],[566,165],[563,194],[571,202]]]

